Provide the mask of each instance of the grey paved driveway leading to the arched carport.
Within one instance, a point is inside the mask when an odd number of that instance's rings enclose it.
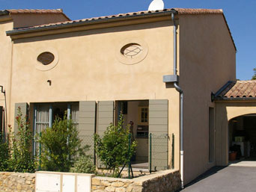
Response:
[[[213,167],[183,192],[256,192],[256,167]]]

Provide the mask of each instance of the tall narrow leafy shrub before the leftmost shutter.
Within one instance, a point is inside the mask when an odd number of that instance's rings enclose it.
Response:
[[[15,172],[34,172],[34,158],[31,155],[31,144],[33,134],[27,121],[22,117],[21,109],[18,108],[16,116],[17,133],[10,131],[10,160],[9,170]],[[10,128],[11,129],[11,128]]]

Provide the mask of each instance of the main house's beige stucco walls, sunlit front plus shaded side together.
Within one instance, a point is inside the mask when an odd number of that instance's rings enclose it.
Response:
[[[177,73],[184,90],[187,183],[216,164],[208,162],[208,108],[215,107],[210,93],[235,79],[235,49],[222,15],[179,18]],[[168,132],[170,139],[174,133],[174,167],[179,168],[179,93],[172,84],[162,83],[162,75],[173,73],[171,16],[165,21],[118,25],[123,26],[88,25],[64,29],[65,34],[39,32],[29,35],[44,36],[14,40],[9,123],[13,125],[16,102],[168,99]],[[91,29],[94,27],[99,29]],[[117,50],[122,42],[134,43],[135,39],[147,45],[146,58],[138,64],[121,64]],[[41,71],[37,55],[44,51],[54,52],[58,62],[52,69]],[[51,86],[47,80],[52,81]],[[168,149],[171,161],[171,142]]]

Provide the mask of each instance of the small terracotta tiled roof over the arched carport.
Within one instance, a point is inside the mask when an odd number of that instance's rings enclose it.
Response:
[[[216,95],[216,99],[256,99],[256,80],[230,81],[222,91]]]

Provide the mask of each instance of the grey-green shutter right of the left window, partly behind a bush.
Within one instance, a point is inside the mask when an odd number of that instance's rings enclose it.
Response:
[[[88,155],[94,157],[94,133],[95,133],[96,102],[79,102],[79,137],[82,146],[90,146]]]

